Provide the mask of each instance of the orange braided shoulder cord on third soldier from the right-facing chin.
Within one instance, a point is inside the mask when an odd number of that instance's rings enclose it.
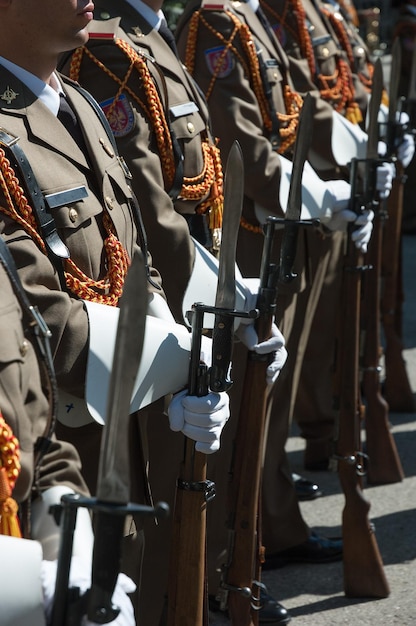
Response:
[[[212,94],[215,82],[223,66],[224,59],[226,58],[227,53],[230,51],[238,58],[244,69],[244,72],[249,77],[251,86],[259,104],[264,127],[270,132],[272,128],[270,108],[264,92],[259,60],[256,53],[256,46],[250,29],[248,28],[247,24],[244,24],[232,11],[226,10],[225,13],[234,24],[233,31],[228,40],[224,37],[224,35],[222,35],[222,33],[215,30],[211,26],[211,24],[207,22],[202,10],[195,11],[189,24],[188,40],[186,43],[185,64],[189,72],[191,74],[194,74],[197,36],[200,24],[202,24],[224,45],[224,50],[221,52],[216,60],[213,76],[210,85],[205,93],[207,101],[209,101],[209,98]],[[239,35],[245,58],[240,54],[239,50],[234,45],[237,35]],[[282,139],[282,142],[279,145],[278,152],[280,152],[281,154],[286,152],[295,142],[296,129],[299,121],[299,113],[302,108],[301,96],[293,92],[287,84],[285,84],[283,87],[283,97],[286,113],[277,113],[277,117],[280,122],[279,133]]]

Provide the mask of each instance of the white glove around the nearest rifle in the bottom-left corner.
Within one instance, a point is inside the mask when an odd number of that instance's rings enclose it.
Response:
[[[43,589],[43,603],[47,620],[51,619],[53,598],[55,594],[57,561],[42,561],[41,582]],[[85,563],[77,556],[72,557],[71,571],[69,575],[70,587],[79,587],[83,594],[91,587],[91,571],[85,567]],[[112,601],[120,609],[115,620],[109,622],[114,626],[136,626],[134,609],[128,593],[135,591],[136,585],[125,574],[119,574]],[[90,622],[84,615],[81,626],[93,626],[97,622]]]

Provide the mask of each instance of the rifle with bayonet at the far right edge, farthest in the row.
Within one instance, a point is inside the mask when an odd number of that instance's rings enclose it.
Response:
[[[397,38],[392,48],[392,64],[389,90],[389,114],[387,122],[387,157],[396,156],[397,139],[404,132],[400,121],[400,104],[397,91],[400,78],[401,48]],[[416,71],[416,57],[413,55],[412,76]],[[410,90],[414,86],[410,83]],[[403,359],[402,342],[402,275],[401,226],[403,214],[403,186],[406,177],[403,166],[396,160],[396,177],[387,201],[388,220],[383,233],[381,292],[381,319],[385,336],[385,381],[384,395],[390,410],[399,413],[413,413],[416,403]]]

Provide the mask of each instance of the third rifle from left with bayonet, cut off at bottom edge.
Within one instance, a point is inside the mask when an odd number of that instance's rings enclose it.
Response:
[[[260,267],[260,286],[256,309],[259,311],[256,331],[259,343],[271,336],[276,309],[279,279],[295,278],[292,268],[297,247],[301,213],[301,181],[304,162],[312,135],[313,99],[305,98],[293,159],[288,209],[285,219],[269,216],[264,226],[264,244]],[[302,130],[301,130],[302,129]],[[285,224],[280,254],[280,268],[271,262],[274,232]],[[235,626],[255,626],[261,609],[259,592],[263,549],[260,545],[259,513],[263,448],[266,438],[267,403],[270,388],[266,383],[268,355],[249,351],[244,377],[238,428],[229,481],[227,516],[227,562],[222,566],[218,597],[222,609],[228,607]]]

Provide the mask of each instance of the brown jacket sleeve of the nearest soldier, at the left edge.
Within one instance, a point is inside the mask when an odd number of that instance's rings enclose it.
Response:
[[[49,404],[20,304],[2,265],[0,293],[0,410],[19,441],[21,469],[12,495],[21,503],[29,497],[34,483],[34,446],[44,435]],[[56,484],[86,491],[75,449],[53,439],[42,459],[36,488],[44,490]]]

